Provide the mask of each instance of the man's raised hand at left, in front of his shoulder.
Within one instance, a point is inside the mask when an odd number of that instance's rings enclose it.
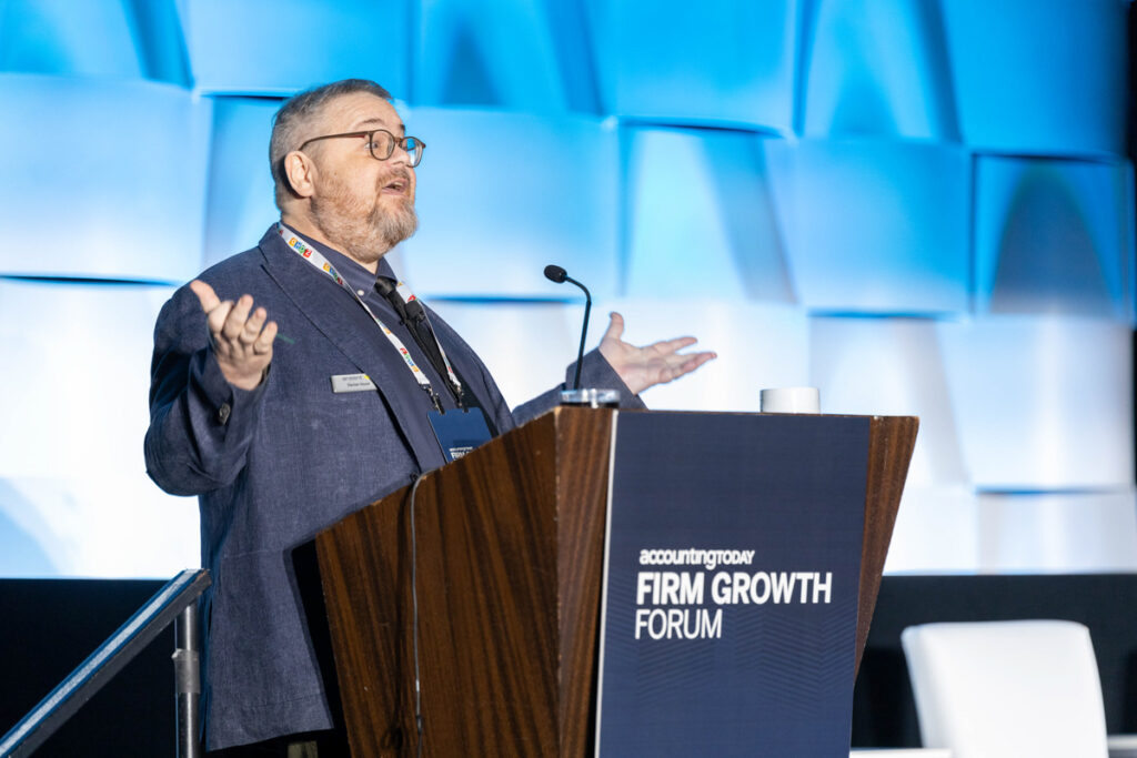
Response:
[[[273,360],[273,340],[276,322],[265,323],[268,311],[252,309],[252,295],[242,294],[235,303],[222,300],[214,289],[201,280],[190,282],[206,313],[214,356],[222,375],[233,386],[254,390],[260,384],[265,369]]]

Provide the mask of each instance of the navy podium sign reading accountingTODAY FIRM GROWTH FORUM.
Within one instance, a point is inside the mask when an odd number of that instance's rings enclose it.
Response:
[[[620,414],[597,755],[847,755],[870,419]]]

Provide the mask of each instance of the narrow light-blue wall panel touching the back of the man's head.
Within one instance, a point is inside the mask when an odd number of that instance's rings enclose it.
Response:
[[[268,138],[280,101],[214,100],[202,268],[255,245],[279,217],[268,167]]]

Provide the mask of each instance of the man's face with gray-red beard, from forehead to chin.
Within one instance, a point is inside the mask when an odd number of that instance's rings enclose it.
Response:
[[[331,101],[317,122],[305,139],[375,128],[399,138],[406,133],[391,103],[365,92]],[[366,138],[358,136],[321,140],[305,152],[318,169],[310,198],[313,222],[329,242],[370,264],[414,234],[415,169],[401,148],[396,147],[387,160],[376,160]]]

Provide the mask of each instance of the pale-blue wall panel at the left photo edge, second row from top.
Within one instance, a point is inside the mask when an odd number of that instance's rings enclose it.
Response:
[[[149,82],[9,74],[0,273],[183,280],[201,260],[209,102]]]

